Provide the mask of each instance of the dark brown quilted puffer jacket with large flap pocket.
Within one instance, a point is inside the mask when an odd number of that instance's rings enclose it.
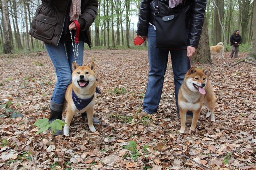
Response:
[[[69,0],[42,0],[31,22],[29,34],[45,44],[58,45],[68,11]],[[81,0],[80,34],[85,43],[91,47],[89,27],[98,11],[98,0]]]

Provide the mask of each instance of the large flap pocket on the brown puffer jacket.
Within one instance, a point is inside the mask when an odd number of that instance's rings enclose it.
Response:
[[[45,39],[52,39],[57,18],[43,13],[39,13],[34,22],[35,34]]]

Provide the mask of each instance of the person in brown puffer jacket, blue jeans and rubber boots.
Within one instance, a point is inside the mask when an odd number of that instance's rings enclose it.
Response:
[[[45,47],[52,60],[58,81],[50,100],[51,115],[49,123],[62,119],[64,111],[65,93],[72,82],[72,63],[83,65],[84,42],[91,48],[89,27],[94,22],[98,11],[98,0],[42,0],[36,9],[36,15],[31,22],[29,34],[44,41]],[[73,47],[76,46],[74,35],[77,20],[80,26],[78,56],[74,56]],[[70,30],[73,36],[71,41]],[[82,113],[83,119],[86,112]],[[93,117],[95,123],[100,121]],[[62,130],[56,130],[56,135],[62,135]]]

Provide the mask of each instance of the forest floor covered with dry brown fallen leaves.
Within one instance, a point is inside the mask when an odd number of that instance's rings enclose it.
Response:
[[[101,124],[92,133],[76,114],[70,136],[55,137],[60,161],[51,132],[35,134],[33,125],[50,115],[56,82],[47,52],[1,55],[0,169],[256,169],[256,66],[230,67],[236,59],[229,54],[224,60],[215,56],[212,65],[192,64],[211,69],[216,122],[203,106],[196,133],[188,135],[179,134],[171,59],[158,112],[137,118],[147,86],[147,51],[85,50],[84,64],[96,64],[102,94],[97,94],[94,116]],[[247,54],[239,53],[238,59]]]

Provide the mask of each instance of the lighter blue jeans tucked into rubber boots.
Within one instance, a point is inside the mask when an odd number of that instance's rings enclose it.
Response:
[[[45,44],[48,54],[55,68],[58,81],[55,85],[51,100],[58,104],[63,104],[65,101],[65,93],[68,85],[72,82],[72,63],[75,61],[72,42],[59,42],[57,46]],[[79,41],[78,46],[79,56],[76,58],[78,65],[83,64],[84,57],[84,42]]]

